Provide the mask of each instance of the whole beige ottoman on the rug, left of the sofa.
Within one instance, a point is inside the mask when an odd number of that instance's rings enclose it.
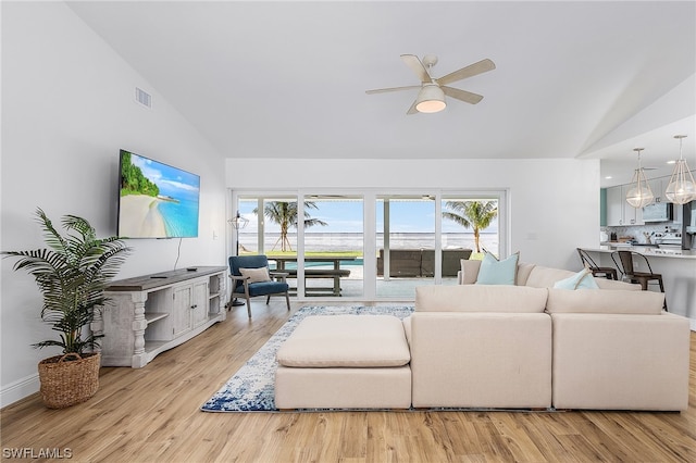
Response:
[[[411,406],[411,355],[396,316],[308,316],[276,355],[278,409]]]

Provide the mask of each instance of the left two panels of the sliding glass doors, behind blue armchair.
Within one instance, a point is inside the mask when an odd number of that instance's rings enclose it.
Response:
[[[363,297],[363,201],[360,196],[239,195],[231,220],[234,250],[266,254],[301,297]],[[235,212],[236,214],[236,212]],[[237,241],[238,239],[238,241]]]

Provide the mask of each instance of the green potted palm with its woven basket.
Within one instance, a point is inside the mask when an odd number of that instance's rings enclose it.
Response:
[[[62,353],[39,362],[41,398],[60,409],[84,402],[99,388],[100,354],[89,324],[107,302],[104,290],[129,249],[119,237],[97,238],[85,218],[64,215],[61,235],[41,209],[36,211],[47,248],[3,251],[18,258],[14,270],[34,276],[44,298],[41,320],[60,337],[34,345],[60,347]]]

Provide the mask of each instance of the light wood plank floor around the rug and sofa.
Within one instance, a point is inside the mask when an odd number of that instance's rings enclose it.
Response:
[[[237,308],[145,368],[104,367],[83,404],[49,410],[35,395],[3,409],[2,459],[48,448],[74,462],[696,461],[694,333],[683,413],[200,412],[299,306],[259,300],[253,321]]]

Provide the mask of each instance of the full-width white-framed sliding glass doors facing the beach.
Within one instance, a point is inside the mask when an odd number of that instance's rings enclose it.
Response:
[[[456,285],[462,259],[506,255],[506,201],[505,191],[233,192],[231,253],[269,255],[300,298],[408,301],[417,286]]]

